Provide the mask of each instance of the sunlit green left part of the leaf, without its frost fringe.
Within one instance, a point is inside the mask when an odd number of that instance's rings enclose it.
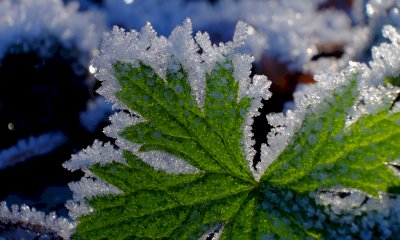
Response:
[[[168,73],[166,80],[143,64],[119,63],[115,70],[122,86],[118,98],[146,119],[120,135],[142,144],[141,151],[165,151],[201,171],[156,171],[128,151],[127,165],[92,166],[123,194],[88,199],[95,211],[79,219],[74,237],[198,239],[229,221],[256,184],[241,150],[241,126],[251,99],[237,101],[232,71],[220,65],[207,75],[202,110],[183,70]],[[219,76],[224,79],[216,84]]]

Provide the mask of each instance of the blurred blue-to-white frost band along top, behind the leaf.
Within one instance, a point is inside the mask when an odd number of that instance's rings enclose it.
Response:
[[[243,20],[251,25],[247,47],[257,60],[265,54],[289,64],[293,71],[317,72],[346,66],[364,48],[369,31],[366,27],[352,26],[351,19],[341,11],[320,10],[323,2],[326,1],[220,0],[209,4],[170,0],[168,3],[135,1],[127,5],[123,1],[107,0],[105,6],[111,22],[138,28],[145,21],[151,21],[163,34],[169,33],[185,17],[190,17],[195,29],[222,33],[222,39],[230,39],[231,32],[226,26]],[[353,5],[358,7],[362,3],[354,1]],[[362,16],[354,18],[362,20]],[[340,60],[312,60],[324,44],[343,45],[344,55]]]

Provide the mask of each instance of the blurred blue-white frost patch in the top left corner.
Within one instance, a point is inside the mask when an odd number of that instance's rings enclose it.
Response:
[[[61,0],[21,0],[0,2],[0,59],[12,46],[18,50],[38,50],[46,56],[53,40],[64,47],[76,47],[82,64],[88,62],[105,29],[99,12],[78,12],[78,5],[64,6]],[[34,45],[34,46],[32,46]]]

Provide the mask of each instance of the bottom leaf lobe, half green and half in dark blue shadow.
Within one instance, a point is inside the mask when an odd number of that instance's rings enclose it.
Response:
[[[314,199],[286,188],[264,185],[249,194],[246,205],[224,226],[221,239],[321,239],[327,218]],[[312,211],[310,211],[312,210]]]

